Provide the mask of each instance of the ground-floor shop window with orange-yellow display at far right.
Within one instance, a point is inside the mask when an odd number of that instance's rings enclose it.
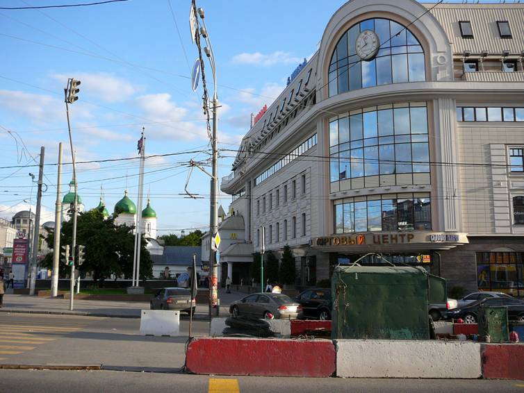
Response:
[[[524,296],[524,253],[477,253],[477,285],[480,290]]]

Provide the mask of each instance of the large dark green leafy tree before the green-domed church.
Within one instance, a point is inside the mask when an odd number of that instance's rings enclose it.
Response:
[[[71,244],[72,227],[72,220],[63,223],[60,244]],[[46,241],[47,244],[54,244],[54,232],[51,231],[47,235]],[[85,262],[79,267],[80,272],[81,274],[91,272],[93,279],[99,283],[111,274],[131,277],[134,242],[133,228],[115,225],[113,217],[104,219],[101,212],[96,209],[80,213],[76,219],[76,244],[85,246]],[[52,258],[45,258],[42,265],[50,268],[49,262],[52,266]],[[140,279],[151,278],[152,268],[153,262],[146,249],[146,241],[142,237]],[[60,271],[63,271],[61,267]]]

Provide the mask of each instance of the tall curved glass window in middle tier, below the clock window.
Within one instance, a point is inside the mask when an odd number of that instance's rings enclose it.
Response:
[[[429,174],[426,104],[375,106],[332,117],[329,153],[331,183],[372,176],[375,185],[393,185],[395,175]],[[410,177],[408,183],[418,182]],[[358,184],[352,188],[364,186]]]

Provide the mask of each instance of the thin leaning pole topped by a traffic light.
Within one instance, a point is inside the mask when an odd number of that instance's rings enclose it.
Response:
[[[74,202],[73,205],[73,239],[71,244],[71,271],[70,275],[70,285],[69,285],[69,310],[73,310],[73,298],[74,298],[74,254],[76,251],[76,214],[78,212],[78,184],[76,183],[76,162],[75,162],[75,153],[73,149],[73,138],[71,135],[71,124],[69,122],[69,103],[74,103],[79,99],[76,94],[80,92],[78,86],[80,81],[76,81],[74,78],[69,78],[67,80],[67,87],[64,89],[65,95],[65,113],[67,115],[67,129],[69,131],[69,146],[71,147],[71,158],[73,164],[73,184],[74,184]]]

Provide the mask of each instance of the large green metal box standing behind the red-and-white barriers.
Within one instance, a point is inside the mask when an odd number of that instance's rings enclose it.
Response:
[[[331,338],[429,340],[428,288],[421,267],[336,267]]]

